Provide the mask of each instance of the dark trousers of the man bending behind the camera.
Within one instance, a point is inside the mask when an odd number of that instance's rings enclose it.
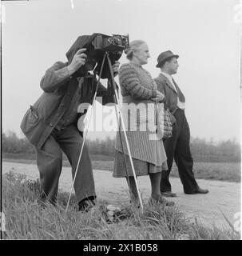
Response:
[[[69,125],[50,134],[41,150],[36,149],[37,165],[40,173],[42,188],[41,201],[46,200],[56,204],[58,194],[58,182],[62,168],[62,153],[66,154],[72,166],[72,176],[76,170],[83,139],[76,126]],[[69,184],[69,188],[71,185]],[[74,190],[77,202],[89,197],[96,197],[93,180],[93,170],[89,158],[89,151],[85,145],[81,154],[81,161],[77,169],[74,182]]]

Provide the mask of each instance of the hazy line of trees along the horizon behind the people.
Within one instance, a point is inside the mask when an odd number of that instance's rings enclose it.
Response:
[[[114,156],[115,138],[87,140],[90,154]],[[191,138],[191,151],[195,161],[200,162],[240,162],[240,143],[235,139],[210,142],[201,138]],[[34,146],[27,138],[18,138],[14,131],[2,134],[2,152],[11,154],[34,154]]]

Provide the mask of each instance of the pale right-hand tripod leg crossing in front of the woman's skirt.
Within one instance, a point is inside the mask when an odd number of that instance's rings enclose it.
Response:
[[[115,81],[114,81],[114,77],[113,77],[113,70],[112,70],[112,65],[111,65],[111,61],[110,61],[110,58],[109,58],[109,54],[107,54],[107,59],[108,59],[108,62],[109,62],[109,70],[110,70],[110,73],[111,73],[113,90],[115,92],[116,101],[118,101],[118,94],[117,94],[117,89],[116,89],[116,86],[115,86]],[[115,109],[116,109],[117,113],[119,111],[119,114],[120,114],[121,127],[122,127],[122,129],[124,131],[124,135],[125,135],[125,142],[126,142],[126,146],[127,146],[127,150],[128,150],[128,154],[129,154],[129,160],[130,160],[131,168],[132,168],[132,171],[133,171],[133,178],[134,178],[134,182],[135,182],[135,185],[136,185],[138,198],[139,198],[139,201],[140,201],[140,204],[141,204],[141,210],[143,211],[144,207],[143,207],[143,203],[142,203],[142,200],[141,200],[141,193],[140,193],[140,190],[139,190],[138,184],[137,184],[137,178],[136,178],[136,174],[135,174],[135,170],[134,170],[134,166],[133,166],[133,160],[132,160],[131,151],[130,151],[130,147],[129,147],[129,141],[128,141],[127,134],[126,134],[126,131],[125,131],[125,123],[124,123],[124,120],[123,120],[123,116],[121,114],[121,110],[117,110],[118,106],[120,106],[120,104],[117,104]],[[118,122],[118,119],[117,119],[117,122]],[[118,127],[118,129],[119,129],[119,127]],[[120,130],[119,130],[119,132],[120,132]],[[131,190],[130,187],[129,187],[129,190]]]

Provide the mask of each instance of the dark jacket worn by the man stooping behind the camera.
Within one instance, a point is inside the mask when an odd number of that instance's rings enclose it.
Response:
[[[75,52],[83,48],[79,41],[78,47],[73,44]],[[71,49],[72,49],[71,47]],[[68,53],[72,52],[69,50]],[[71,54],[73,58],[73,54]],[[68,62],[56,62],[54,66],[46,70],[46,74],[41,80],[40,86],[44,91],[37,102],[27,110],[22,119],[21,129],[30,142],[40,149],[50,136],[54,127],[65,114],[65,110],[71,104],[74,95],[80,94],[80,103],[92,104],[97,80],[93,75],[77,77],[69,75]],[[102,97],[102,104],[113,102],[113,90],[108,86],[106,89],[99,84],[97,97]]]

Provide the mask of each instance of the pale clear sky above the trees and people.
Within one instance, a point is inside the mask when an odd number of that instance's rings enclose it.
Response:
[[[39,82],[83,34],[129,34],[149,46],[143,66],[159,74],[157,56],[178,54],[173,76],[186,98],[192,137],[240,141],[240,27],[236,0],[42,0],[2,4],[2,132],[22,136]],[[125,54],[121,64],[128,62]],[[118,78],[115,78],[118,83]],[[101,106],[100,106],[101,107]],[[105,107],[106,108],[106,107]],[[111,111],[111,110],[110,110]],[[113,122],[116,122],[113,114]],[[115,132],[89,132],[89,138]]]

